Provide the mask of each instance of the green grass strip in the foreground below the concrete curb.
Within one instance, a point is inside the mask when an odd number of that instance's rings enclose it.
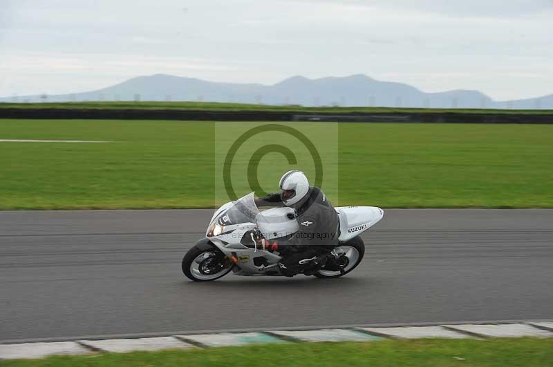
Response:
[[[427,339],[365,343],[297,343],[207,350],[106,353],[89,356],[12,359],[5,367],[115,366],[553,366],[553,339]]]

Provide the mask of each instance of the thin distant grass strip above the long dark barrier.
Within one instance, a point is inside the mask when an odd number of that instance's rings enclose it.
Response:
[[[492,110],[482,108],[393,108],[393,107],[302,107],[299,105],[270,106],[253,103],[218,102],[153,102],[153,101],[91,101],[47,103],[0,103],[0,108],[68,108],[68,109],[138,109],[138,110],[241,110],[241,111],[294,111],[294,112],[424,112],[424,113],[498,113],[498,114],[551,114],[553,110]]]

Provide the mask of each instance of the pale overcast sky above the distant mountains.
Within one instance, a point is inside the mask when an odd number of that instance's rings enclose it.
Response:
[[[553,0],[0,0],[0,96],[139,75],[364,74],[496,100],[553,93]]]

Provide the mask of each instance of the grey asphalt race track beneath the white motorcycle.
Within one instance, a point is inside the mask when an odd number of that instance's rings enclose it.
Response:
[[[193,283],[211,214],[0,212],[0,340],[553,318],[553,210],[386,210],[341,279]]]

